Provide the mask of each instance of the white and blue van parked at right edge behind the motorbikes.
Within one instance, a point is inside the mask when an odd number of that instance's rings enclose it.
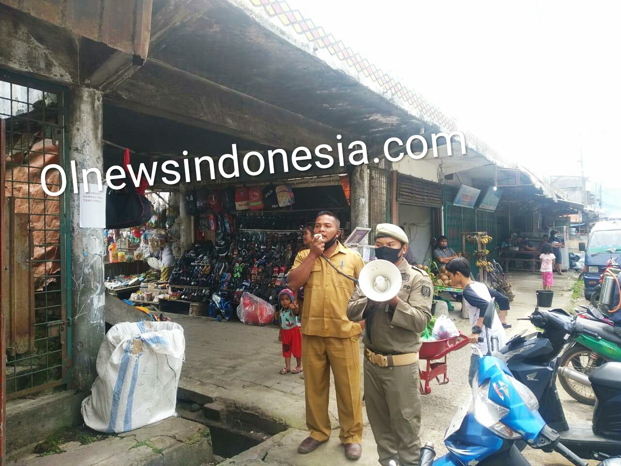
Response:
[[[597,222],[589,234],[586,245],[580,243],[580,250],[584,254],[584,297],[591,299],[591,295],[599,290],[599,277],[604,272],[611,257],[621,263],[621,221]],[[614,252],[610,252],[614,249]]]

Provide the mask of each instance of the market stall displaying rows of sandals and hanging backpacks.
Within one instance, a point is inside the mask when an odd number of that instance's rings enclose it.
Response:
[[[171,274],[167,298],[202,305],[211,317],[234,316],[229,309],[237,309],[244,291],[276,304],[304,247],[302,229],[317,212],[337,214],[343,238],[351,228],[347,176],[201,186],[183,201],[194,242]]]

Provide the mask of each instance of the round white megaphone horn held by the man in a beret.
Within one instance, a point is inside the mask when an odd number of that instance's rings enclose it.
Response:
[[[397,296],[401,290],[401,272],[388,260],[372,260],[360,270],[358,286],[371,301],[384,303]]]

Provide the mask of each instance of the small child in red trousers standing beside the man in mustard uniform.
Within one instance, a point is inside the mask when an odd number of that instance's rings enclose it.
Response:
[[[299,374],[302,372],[302,332],[297,324],[297,307],[293,291],[285,288],[278,293],[280,303],[280,335],[283,342],[284,367],[281,374]],[[291,370],[291,354],[296,359],[296,368]]]

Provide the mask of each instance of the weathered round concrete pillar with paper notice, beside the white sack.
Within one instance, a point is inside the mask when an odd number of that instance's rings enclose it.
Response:
[[[78,183],[82,169],[98,168],[104,175],[102,96],[94,89],[71,91],[68,117],[69,159],[75,161]],[[93,176],[93,175],[89,175]],[[94,178],[93,178],[94,179]],[[89,178],[91,180],[91,178]],[[92,182],[92,181],[91,181]],[[72,185],[67,180],[68,188]],[[79,194],[70,196],[71,288],[73,301],[72,385],[91,390],[95,362],[105,334],[104,232],[79,227]]]

